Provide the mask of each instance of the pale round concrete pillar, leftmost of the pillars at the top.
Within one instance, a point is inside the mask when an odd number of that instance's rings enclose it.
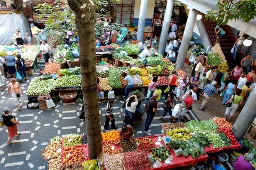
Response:
[[[137,32],[137,40],[140,41],[140,42],[143,41],[147,6],[148,6],[148,0],[141,0],[139,23],[138,23],[138,32]]]

